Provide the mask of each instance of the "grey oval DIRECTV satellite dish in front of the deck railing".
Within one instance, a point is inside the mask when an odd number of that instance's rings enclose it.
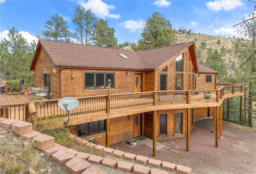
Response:
[[[71,111],[78,107],[79,101],[73,97],[65,97],[58,101],[60,109],[65,111]]]

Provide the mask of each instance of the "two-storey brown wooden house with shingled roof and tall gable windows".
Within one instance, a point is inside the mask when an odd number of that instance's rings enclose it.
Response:
[[[194,121],[218,113],[224,95],[216,90],[218,72],[197,63],[194,42],[127,51],[39,39],[30,70],[35,86],[49,87],[49,100],[110,92],[138,94],[129,99],[135,101],[149,95],[141,92],[158,92],[158,104],[70,118],[71,133],[106,146],[142,135],[153,140],[188,137]],[[242,96],[241,88],[230,97]]]

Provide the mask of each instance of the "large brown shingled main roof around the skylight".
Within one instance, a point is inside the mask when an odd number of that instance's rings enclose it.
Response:
[[[45,39],[40,39],[38,42],[38,45],[42,46],[55,66],[138,70],[154,69],[178,51],[192,44],[193,42],[188,42],[141,51],[128,51]],[[118,53],[129,59],[124,59]]]

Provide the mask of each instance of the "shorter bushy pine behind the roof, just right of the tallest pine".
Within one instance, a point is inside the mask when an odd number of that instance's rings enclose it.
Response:
[[[94,24],[94,41],[92,45],[98,47],[117,48],[117,39],[114,37],[114,28],[108,27],[108,22],[103,19],[97,20]]]

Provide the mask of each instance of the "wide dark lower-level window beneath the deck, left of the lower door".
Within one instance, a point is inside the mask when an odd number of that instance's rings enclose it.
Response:
[[[86,137],[106,131],[106,120],[93,121],[78,125],[78,137]]]

